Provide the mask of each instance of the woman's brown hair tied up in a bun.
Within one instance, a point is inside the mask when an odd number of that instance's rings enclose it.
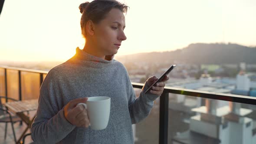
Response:
[[[126,13],[128,10],[128,6],[116,0],[94,0],[91,3],[85,2],[80,4],[79,10],[82,13],[80,25],[84,38],[86,36],[86,23],[92,20],[93,23],[98,24],[112,8],[117,8],[123,13]]]

